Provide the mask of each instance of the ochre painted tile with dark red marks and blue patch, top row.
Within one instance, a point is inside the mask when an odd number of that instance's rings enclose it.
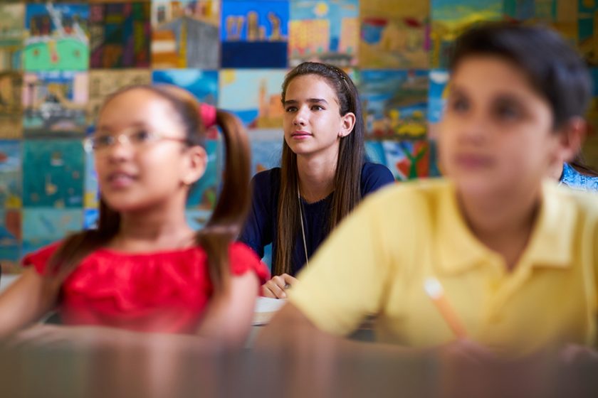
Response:
[[[428,1],[361,1],[362,68],[428,68]]]

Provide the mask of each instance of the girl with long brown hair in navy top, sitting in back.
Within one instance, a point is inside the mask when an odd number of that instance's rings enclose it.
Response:
[[[272,243],[264,296],[285,298],[294,275],[364,195],[394,181],[364,161],[364,122],[357,89],[341,69],[306,62],[283,82],[280,168],[253,178],[252,208],[239,240],[263,257]]]

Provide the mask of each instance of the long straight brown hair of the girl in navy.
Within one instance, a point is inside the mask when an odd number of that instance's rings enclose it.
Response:
[[[364,163],[364,122],[357,88],[351,78],[340,68],[324,63],[301,63],[288,72],[283,82],[282,102],[286,90],[295,77],[316,75],[326,80],[335,90],[340,115],[355,114],[355,126],[351,134],[340,139],[337,168],[335,171],[335,191],[332,195],[328,231],[355,208],[361,200],[361,171]],[[283,155],[280,162],[280,193],[278,194],[278,234],[276,237],[276,262],[273,274],[288,273],[295,239],[299,232],[300,214],[298,198],[297,155],[283,141]]]

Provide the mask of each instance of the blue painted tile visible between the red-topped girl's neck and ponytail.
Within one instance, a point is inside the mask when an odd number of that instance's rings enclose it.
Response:
[[[187,197],[187,208],[211,210],[216,205],[221,175],[220,141],[207,140],[208,164],[206,172],[194,183]]]

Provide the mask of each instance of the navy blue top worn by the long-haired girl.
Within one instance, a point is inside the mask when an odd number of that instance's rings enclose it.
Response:
[[[361,176],[362,198],[383,185],[394,182],[388,168],[377,163],[364,163]],[[272,264],[276,264],[276,234],[278,233],[278,192],[280,190],[280,168],[271,168],[253,176],[253,195],[251,210],[238,240],[247,244],[260,258],[263,248],[272,243]],[[312,257],[315,249],[328,235],[330,220],[330,193],[326,198],[315,203],[307,203],[301,198],[303,205],[303,227],[305,227],[305,243],[308,257]],[[298,233],[293,248],[290,274],[295,275],[305,264],[303,235]]]

